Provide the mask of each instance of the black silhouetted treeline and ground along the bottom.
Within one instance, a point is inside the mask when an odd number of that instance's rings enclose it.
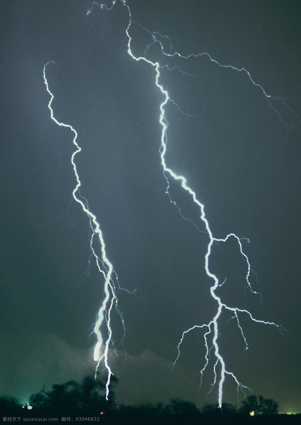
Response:
[[[52,391],[33,394],[28,405],[21,405],[12,397],[0,398],[0,414],[3,421],[11,418],[58,418],[58,422],[97,422],[99,424],[286,424],[300,423],[301,415],[279,415],[278,403],[273,399],[251,395],[242,401],[240,408],[223,403],[206,404],[199,410],[192,402],[172,399],[167,405],[126,406],[114,402],[112,377],[109,397],[106,386],[92,377],[85,377],[82,384],[69,381],[53,385]],[[29,407],[29,408],[28,408]],[[251,415],[252,413],[252,415]],[[90,420],[88,419],[90,418]],[[91,420],[91,418],[93,418]],[[20,422],[19,419],[17,421]],[[36,419],[35,419],[36,420]]]

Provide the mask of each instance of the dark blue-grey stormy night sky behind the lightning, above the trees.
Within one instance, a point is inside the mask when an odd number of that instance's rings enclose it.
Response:
[[[108,12],[83,0],[1,2],[0,109],[0,393],[25,401],[54,383],[80,380],[95,364],[93,335],[103,280],[89,249],[89,221],[72,199],[72,133],[50,119],[47,67],[56,118],[72,125],[81,195],[98,218],[120,286],[122,326],[113,315],[118,358],[118,402],[181,397],[201,406],[213,379],[204,365],[203,331],[176,347],[185,329],[216,312],[204,270],[208,235],[184,221],[166,195],[160,163],[155,70],[127,53],[128,11],[120,1]],[[158,43],[148,58],[162,66],[159,82],[187,115],[169,102],[167,166],[187,178],[204,204],[215,238],[234,232],[237,243],[214,244],[210,269],[223,281],[217,294],[272,326],[241,316],[248,340],[225,313],[219,345],[227,370],[254,394],[280,409],[301,410],[300,368],[300,135],[301,6],[297,1],[128,1],[134,54],[144,54],[158,31],[170,53],[207,56],[169,59]],[[141,27],[142,26],[142,27]],[[284,107],[284,99],[287,107]],[[282,118],[279,119],[279,114]],[[201,229],[192,199],[170,181],[170,194]],[[90,264],[90,267],[89,267]],[[213,362],[213,360],[212,360]],[[240,399],[242,394],[240,394]],[[237,403],[227,379],[223,401]],[[207,397],[217,402],[217,387]]]

